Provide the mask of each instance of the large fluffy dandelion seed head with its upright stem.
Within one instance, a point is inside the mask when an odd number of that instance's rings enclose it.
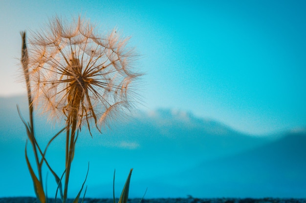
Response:
[[[97,35],[81,17],[72,22],[50,20],[29,40],[29,70],[33,103],[52,118],[66,121],[66,201],[76,131],[84,123],[101,129],[109,118],[133,104],[132,84],[141,74],[132,71],[137,58],[116,31]],[[91,134],[91,133],[90,133]]]

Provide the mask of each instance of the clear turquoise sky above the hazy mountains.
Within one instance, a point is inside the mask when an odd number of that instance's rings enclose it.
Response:
[[[82,14],[136,47],[150,111],[170,108],[266,134],[306,127],[306,3],[292,0],[0,1],[0,95],[17,81],[22,30]]]

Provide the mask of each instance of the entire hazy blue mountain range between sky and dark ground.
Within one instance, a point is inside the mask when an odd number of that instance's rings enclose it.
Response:
[[[35,196],[25,159],[26,134],[16,112],[26,117],[26,97],[0,97],[0,197]],[[61,125],[52,128],[46,116],[35,116],[35,132],[44,148]],[[48,128],[45,128],[47,126]],[[140,198],[305,198],[306,129],[274,136],[249,136],[192,113],[170,109],[138,111],[111,124],[103,133],[82,129],[76,145],[69,197],[86,185],[89,198],[111,198],[113,170],[120,191],[134,168],[130,197]],[[65,165],[65,133],[48,148],[56,173]],[[29,149],[29,147],[28,147]],[[29,151],[30,152],[30,151]],[[29,153],[29,155],[32,153]],[[33,163],[33,162],[32,162]],[[49,174],[48,196],[56,184]],[[22,183],[22,184],[21,184]],[[116,192],[117,195],[119,195]]]

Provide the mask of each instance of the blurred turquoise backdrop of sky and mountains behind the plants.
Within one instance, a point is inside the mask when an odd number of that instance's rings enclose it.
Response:
[[[306,3],[264,0],[0,1],[0,197],[34,196],[24,160],[27,119],[20,31],[58,15],[131,37],[145,75],[141,104],[93,138],[84,129],[71,197],[304,197],[306,191]],[[61,128],[35,117],[39,141]],[[64,138],[47,156],[63,172]],[[45,170],[46,171],[46,170]],[[46,175],[46,174],[44,174]],[[49,196],[54,180],[47,176]]]

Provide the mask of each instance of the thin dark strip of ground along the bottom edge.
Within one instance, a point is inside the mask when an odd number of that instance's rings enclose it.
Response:
[[[71,203],[70,200],[68,203]],[[82,201],[80,200],[79,203]],[[128,203],[139,203],[140,199],[129,199]],[[9,197],[0,198],[0,203],[38,203],[36,198],[32,197]],[[48,203],[54,203],[54,199],[49,199]],[[56,203],[61,203],[57,200]],[[90,199],[86,198],[84,203],[113,203],[112,199]],[[118,200],[116,200],[118,203]],[[238,199],[238,198],[214,198],[214,199],[197,199],[197,198],[159,198],[143,199],[141,203],[306,203],[306,199],[281,199],[281,198],[263,198],[263,199]]]

